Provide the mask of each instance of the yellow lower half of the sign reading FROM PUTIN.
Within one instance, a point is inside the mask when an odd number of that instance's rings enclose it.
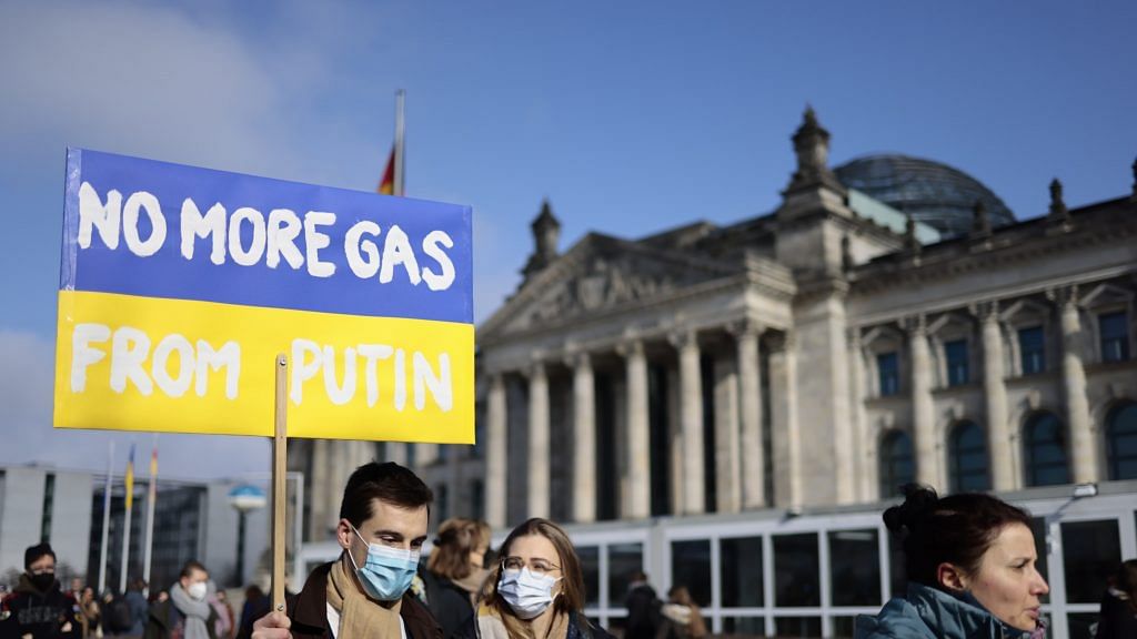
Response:
[[[474,326],[59,291],[55,425],[474,442]]]

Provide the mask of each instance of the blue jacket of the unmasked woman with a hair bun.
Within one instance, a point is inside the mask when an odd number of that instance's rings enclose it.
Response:
[[[856,620],[856,639],[1026,639],[1029,632],[1011,628],[974,600],[964,600],[919,583],[907,597],[897,597],[877,616]]]

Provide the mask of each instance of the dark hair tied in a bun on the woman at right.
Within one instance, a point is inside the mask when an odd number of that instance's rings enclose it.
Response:
[[[1030,528],[1030,515],[981,492],[961,492],[940,499],[931,488],[910,483],[904,504],[885,511],[885,525],[904,545],[908,580],[939,588],[939,565],[949,563],[968,574],[979,570],[982,556],[1003,528]]]

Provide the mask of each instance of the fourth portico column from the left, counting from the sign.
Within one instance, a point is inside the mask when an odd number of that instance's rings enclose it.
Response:
[[[647,357],[644,342],[632,340],[617,349],[624,356],[628,377],[628,492],[621,499],[622,516],[646,518],[652,514],[652,464],[648,428]]]

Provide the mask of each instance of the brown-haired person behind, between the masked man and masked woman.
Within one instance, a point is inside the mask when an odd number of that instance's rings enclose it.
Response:
[[[446,637],[454,636],[474,614],[478,592],[489,574],[483,567],[489,547],[490,526],[485,522],[453,517],[438,528],[434,549],[421,572],[426,605]]]

